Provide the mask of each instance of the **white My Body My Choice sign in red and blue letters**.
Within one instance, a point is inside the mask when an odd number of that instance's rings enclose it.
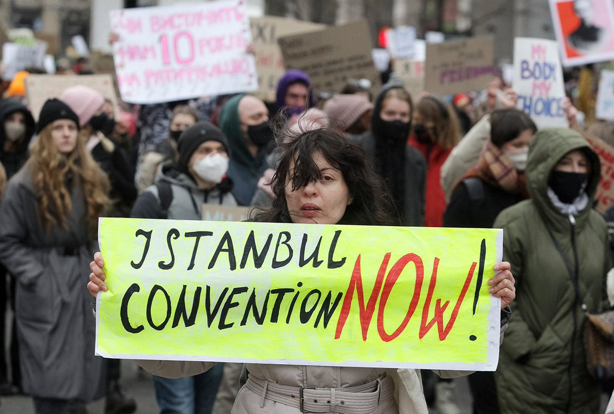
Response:
[[[565,88],[555,41],[516,37],[513,85],[518,93],[516,107],[526,112],[537,128],[569,127],[563,111]]]

